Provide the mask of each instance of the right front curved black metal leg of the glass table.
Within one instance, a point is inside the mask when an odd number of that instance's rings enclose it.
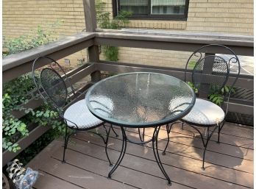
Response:
[[[158,153],[158,146],[157,146],[157,142],[158,142],[158,132],[161,126],[156,126],[154,128],[154,134],[152,136],[153,140],[152,140],[152,146],[153,146],[153,151],[154,151],[154,158],[157,161],[157,165],[159,166],[160,170],[162,171],[163,175],[166,177],[168,185],[171,185],[171,179],[169,178],[168,174],[166,174],[166,170],[163,168],[163,164],[160,160],[160,156]]]

